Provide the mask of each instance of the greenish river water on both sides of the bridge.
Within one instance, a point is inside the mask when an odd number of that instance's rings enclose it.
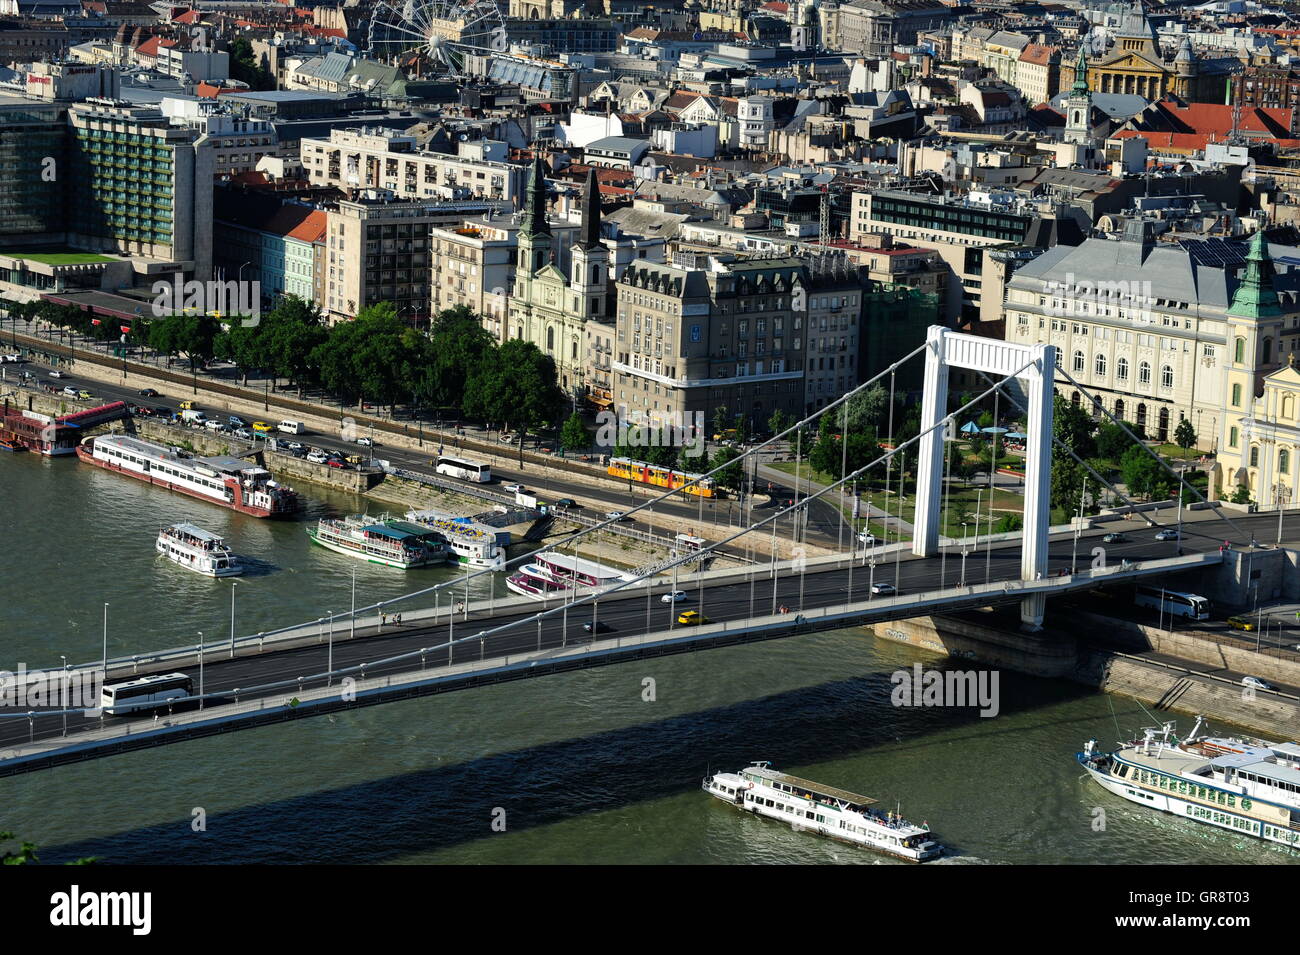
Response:
[[[307,494],[308,518],[363,509]],[[354,569],[359,605],[454,574],[351,561],[311,547],[304,521],[69,459],[0,455],[0,669],[99,659],[104,603],[113,656],[229,638],[230,582],[153,552],[178,520],[254,561],[240,633],[346,612]],[[1089,737],[1149,722],[1132,700],[1002,673],[993,719],[896,708],[889,676],[916,661],[962,665],[841,630],[391,703],[4,778],[0,829],[44,861],[893,864],[699,790],[710,769],[766,759],[901,804],[956,850],[940,865],[1297,859],[1082,778]]]

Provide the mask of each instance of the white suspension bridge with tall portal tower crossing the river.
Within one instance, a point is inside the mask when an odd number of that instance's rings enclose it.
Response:
[[[231,631],[230,639],[221,643],[29,673],[29,683],[44,681],[66,687],[182,672],[194,689],[190,696],[165,708],[120,716],[94,707],[3,707],[0,776],[352,707],[996,604],[1018,604],[1022,629],[1037,631],[1050,596],[1213,572],[1225,564],[1232,546],[1253,547],[1274,525],[1279,543],[1300,538],[1300,516],[1283,520],[1282,515],[1227,515],[1204,498],[1184,520],[1182,495],[1176,508],[1164,512],[1166,520],[1170,512],[1176,520],[1176,538],[1171,541],[1154,539],[1149,531],[1162,526],[1157,515],[1136,507],[1126,526],[1136,522],[1144,531],[1105,547],[1097,544],[1108,528],[1083,521],[1052,526],[1049,470],[1054,443],[1061,447],[1053,437],[1056,348],[1004,343],[937,326],[911,355],[771,442],[749,448],[738,464],[753,472],[758,455],[776,440],[793,439],[801,450],[805,430],[816,427],[827,414],[838,416],[840,434],[848,434],[848,401],[876,382],[889,383],[893,433],[894,379],[913,359],[926,364],[915,437],[883,448],[854,470],[848,466],[848,442],[841,442],[838,479],[806,495],[798,492],[801,476],[796,465],[792,504],[755,508],[750,495],[745,526],[702,551],[668,557],[598,590],[571,590],[545,602],[495,596],[471,600],[469,582],[491,572],[471,573],[467,568],[463,579],[276,631],[242,637]],[[988,387],[961,407],[949,408],[950,368],[972,369]],[[950,468],[957,421],[988,400],[994,409],[1000,411],[1005,401],[1026,416],[1023,529],[957,539],[942,533],[952,526]],[[1138,438],[1134,440],[1145,447]],[[1061,450],[1078,459],[1072,448]],[[880,483],[881,473],[884,487],[892,487],[896,457],[900,463],[916,461],[911,541],[868,538],[863,543],[850,525],[848,539],[841,537],[840,552],[806,556],[801,534],[807,529],[807,508],[818,500],[833,503],[842,489],[858,482]],[[1091,465],[1080,464],[1098,487],[1108,486]],[[897,472],[901,482],[904,468],[897,466]],[[1180,477],[1174,478],[1190,487]],[[991,507],[993,479],[989,474]],[[1110,491],[1117,500],[1132,504],[1119,489],[1112,486]],[[627,513],[673,494],[681,491],[666,491]],[[549,550],[581,554],[586,548],[594,556],[599,544],[593,544],[589,535],[612,522],[581,528]],[[789,535],[792,559],[777,559],[777,535]],[[755,543],[760,539],[770,544],[766,563],[757,556]],[[1227,551],[1225,542],[1230,544]],[[701,556],[719,547],[744,550],[749,563],[686,572],[701,567]],[[511,564],[530,556],[516,556]],[[689,603],[677,602],[673,594],[679,590],[688,592]],[[681,625],[679,612],[685,608],[696,611],[699,622]],[[68,699],[66,693],[62,699]]]

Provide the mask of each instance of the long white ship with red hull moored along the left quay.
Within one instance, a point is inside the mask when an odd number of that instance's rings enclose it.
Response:
[[[294,489],[276,482],[265,468],[238,457],[198,457],[125,434],[86,438],[77,447],[77,457],[254,517],[285,517],[299,507]]]

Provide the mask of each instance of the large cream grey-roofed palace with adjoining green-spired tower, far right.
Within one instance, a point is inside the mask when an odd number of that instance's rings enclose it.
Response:
[[[1095,414],[1104,408],[1160,440],[1188,418],[1196,447],[1222,452],[1242,440],[1232,420],[1300,340],[1297,279],[1274,274],[1262,234],[1245,249],[1157,243],[1149,222],[1128,220],[1119,236],[1023,265],[1006,287],[1006,339],[1057,346],[1057,391]]]

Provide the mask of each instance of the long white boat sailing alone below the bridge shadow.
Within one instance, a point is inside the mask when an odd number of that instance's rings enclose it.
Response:
[[[794,829],[896,859],[923,863],[944,852],[928,825],[916,826],[894,812],[875,809],[876,800],[870,796],[779,773],[770,763],[754,763],[738,773],[707,776],[703,790],[737,808],[789,822]]]

